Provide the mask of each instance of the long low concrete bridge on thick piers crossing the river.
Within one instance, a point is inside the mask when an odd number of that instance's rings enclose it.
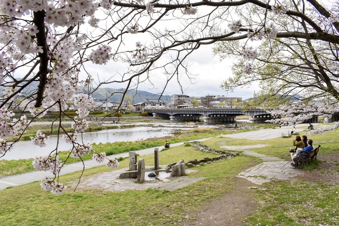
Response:
[[[271,119],[271,114],[257,108],[166,108],[145,109],[149,115],[170,119],[176,122],[200,121],[203,116],[204,122],[235,122],[236,116],[250,116],[250,123],[265,123]]]

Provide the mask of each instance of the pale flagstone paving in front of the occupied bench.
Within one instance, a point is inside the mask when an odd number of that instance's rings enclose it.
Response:
[[[265,182],[276,180],[288,180],[292,177],[303,174],[302,170],[291,166],[291,161],[277,157],[259,154],[253,151],[243,151],[242,154],[258,157],[265,162],[245,170],[237,177],[245,178],[254,184],[261,185]]]

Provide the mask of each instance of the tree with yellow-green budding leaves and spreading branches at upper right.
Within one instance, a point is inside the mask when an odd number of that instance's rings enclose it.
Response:
[[[256,82],[257,104],[270,106],[291,99],[338,101],[338,2],[272,1],[266,8],[256,3],[238,9],[241,19],[230,26],[239,33],[237,41],[214,47],[221,59],[239,56],[234,76],[221,87],[232,91]]]

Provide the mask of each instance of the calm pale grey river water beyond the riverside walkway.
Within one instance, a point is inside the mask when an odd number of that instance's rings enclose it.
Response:
[[[135,141],[135,140],[145,140],[151,137],[163,137],[163,136],[171,136],[174,131],[183,130],[183,129],[191,129],[196,126],[187,126],[183,123],[174,123],[174,124],[165,124],[161,123],[164,126],[161,126],[160,123],[155,124],[156,127],[152,126],[137,126],[132,128],[119,128],[119,129],[108,129],[101,130],[96,132],[87,132],[83,133],[82,138],[84,143],[113,143],[113,142],[127,142],[127,141]],[[206,125],[205,125],[206,126]],[[80,139],[80,135],[78,134],[78,139]],[[34,158],[36,156],[46,156],[52,150],[55,149],[56,144],[58,143],[57,136],[50,136],[49,140],[47,140],[46,147],[40,148],[39,146],[33,145],[31,140],[20,140],[17,142],[10,152],[7,152],[5,156],[1,159],[5,160],[18,160],[18,159],[27,159]],[[70,150],[72,144],[66,143],[64,139],[61,138],[58,150],[66,151]]]

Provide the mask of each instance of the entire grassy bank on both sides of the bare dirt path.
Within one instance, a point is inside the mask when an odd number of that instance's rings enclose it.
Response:
[[[316,140],[335,139],[339,132],[314,135]],[[288,147],[277,148],[278,144],[291,143],[291,138],[272,140],[242,140],[214,137],[203,142],[213,148],[224,145],[267,144],[257,148],[259,153],[287,157]],[[219,149],[219,148],[218,148]],[[326,143],[321,154],[337,150],[335,144]],[[241,153],[241,152],[240,152]],[[202,153],[193,147],[178,146],[161,151],[160,164],[180,159],[200,159]],[[140,157],[138,157],[140,158]],[[152,165],[153,155],[142,157],[146,165]],[[320,160],[318,160],[320,161]],[[194,219],[194,211],[200,210],[206,202],[218,199],[224,193],[237,190],[236,178],[240,172],[255,166],[261,160],[241,155],[228,160],[212,162],[194,167],[194,177],[207,177],[175,191],[147,189],[125,192],[109,192],[101,189],[68,189],[62,195],[43,191],[39,182],[12,187],[0,191],[1,225],[184,225],[183,221]],[[128,167],[128,159],[120,162],[119,168]],[[324,169],[326,170],[326,169]],[[84,171],[83,177],[112,171],[105,166]],[[80,173],[61,177],[61,182],[72,184]],[[248,216],[240,216],[245,225],[337,225],[339,187],[322,182],[308,183],[274,181],[255,185],[266,190],[248,189],[246,195],[258,204],[258,209]],[[145,211],[147,210],[147,211]],[[227,210],[225,210],[227,212]]]

